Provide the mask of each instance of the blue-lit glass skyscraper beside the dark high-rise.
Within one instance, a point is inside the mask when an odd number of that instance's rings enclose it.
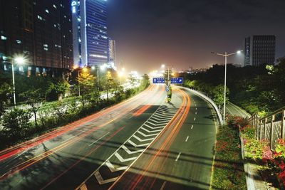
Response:
[[[108,63],[106,0],[72,1],[74,65]]]

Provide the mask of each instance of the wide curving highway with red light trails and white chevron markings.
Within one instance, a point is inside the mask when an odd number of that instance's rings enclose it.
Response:
[[[0,189],[209,189],[211,105],[165,85],[0,152]]]

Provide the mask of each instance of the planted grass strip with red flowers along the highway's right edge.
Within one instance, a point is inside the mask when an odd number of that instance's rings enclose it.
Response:
[[[219,128],[211,189],[247,189],[240,147],[238,128]]]

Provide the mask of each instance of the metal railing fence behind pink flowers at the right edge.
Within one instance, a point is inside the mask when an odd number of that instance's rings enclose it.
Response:
[[[256,127],[257,139],[269,140],[270,148],[276,148],[278,139],[285,139],[285,107],[272,112],[266,117],[255,114],[249,118],[249,124]]]

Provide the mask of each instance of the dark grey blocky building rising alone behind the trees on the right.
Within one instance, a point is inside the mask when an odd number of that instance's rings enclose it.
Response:
[[[244,66],[274,64],[276,36],[249,36],[244,43]]]

